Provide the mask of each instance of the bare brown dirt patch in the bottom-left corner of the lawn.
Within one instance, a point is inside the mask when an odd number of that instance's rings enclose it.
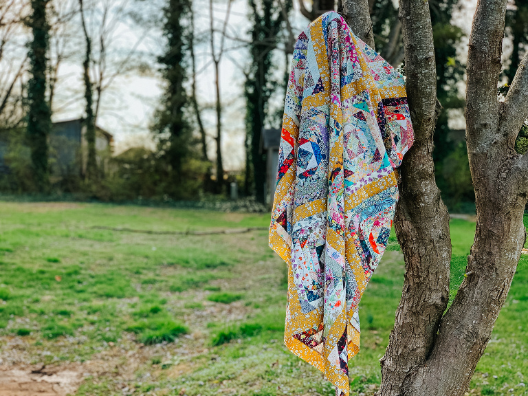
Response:
[[[83,380],[79,365],[0,366],[0,396],[73,395]]]

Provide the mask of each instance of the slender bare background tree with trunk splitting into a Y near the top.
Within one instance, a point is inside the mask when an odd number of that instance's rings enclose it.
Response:
[[[220,61],[225,50],[225,30],[228,26],[229,16],[231,12],[232,0],[228,0],[228,8],[225,12],[225,18],[223,20],[223,26],[220,36],[220,48],[215,49],[214,41],[214,14],[212,12],[212,0],[209,0],[209,17],[210,17],[210,47],[212,63],[214,65],[214,88],[217,94],[217,136],[214,138],[217,142],[217,188],[221,192],[223,186],[223,162],[222,162],[222,150],[221,150],[221,135],[222,135],[222,103],[220,98]]]

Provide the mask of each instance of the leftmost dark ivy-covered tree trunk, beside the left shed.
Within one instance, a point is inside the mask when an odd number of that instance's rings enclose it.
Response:
[[[46,18],[49,0],[32,0],[32,14],[28,26],[33,33],[30,43],[31,79],[28,84],[28,125],[26,135],[31,150],[34,185],[39,192],[50,187],[47,163],[47,137],[52,129],[52,111],[46,100],[47,50],[49,47],[50,25]]]

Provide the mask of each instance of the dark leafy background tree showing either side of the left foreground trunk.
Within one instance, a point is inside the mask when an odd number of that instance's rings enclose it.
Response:
[[[459,0],[429,1],[429,10],[434,38],[434,60],[437,67],[436,133],[434,133],[434,170],[437,183],[448,200],[448,206],[457,206],[461,201],[473,201],[474,194],[467,164],[465,142],[450,141],[448,126],[449,109],[463,109],[464,100],[459,95],[459,83],[465,66],[456,57],[463,32],[451,23],[452,13]],[[394,67],[404,60],[404,45],[398,10],[392,0],[369,0],[372,29],[377,52]]]

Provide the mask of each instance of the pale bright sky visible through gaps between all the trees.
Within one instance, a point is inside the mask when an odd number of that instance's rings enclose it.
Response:
[[[70,0],[59,0],[67,3]],[[159,10],[164,0],[149,0],[145,2],[144,8],[137,7],[137,1],[133,0],[103,0],[120,1],[134,4],[136,12],[139,11],[144,17],[151,17],[157,23],[138,25],[131,19],[123,18],[117,23],[111,34],[111,40],[107,53],[109,59],[126,58],[126,54],[135,48],[133,58],[135,63],[145,63],[150,67],[137,72],[137,67],[131,72],[116,76],[112,84],[105,89],[101,99],[101,111],[98,117],[98,125],[113,134],[115,140],[115,153],[120,153],[131,146],[146,146],[154,148],[151,139],[151,122],[155,109],[159,106],[163,92],[163,81],[155,68],[155,58],[162,54],[164,41],[162,39]],[[141,3],[140,3],[141,4]],[[220,29],[225,19],[227,0],[214,0],[213,12],[215,28]],[[216,121],[214,117],[214,73],[211,63],[209,37],[209,1],[193,0],[192,6],[195,10],[196,40],[201,39],[195,53],[197,55],[197,79],[198,102],[203,111],[203,120],[208,133],[208,152],[210,158],[215,157],[214,135],[216,133]],[[465,63],[467,58],[467,41],[471,28],[472,16],[476,7],[476,0],[461,1],[461,9],[454,14],[453,23],[459,25],[466,36],[463,45],[459,49],[459,57]],[[243,167],[245,158],[245,99],[243,98],[243,69],[248,65],[248,51],[243,41],[248,40],[250,24],[247,18],[247,0],[233,0],[228,23],[228,36],[225,41],[225,54],[220,63],[220,86],[221,98],[224,105],[223,111],[223,145],[222,153],[224,168],[236,170]],[[94,18],[95,20],[95,18]],[[309,23],[298,10],[298,2],[294,1],[291,23],[294,34],[300,33]],[[91,31],[96,30],[95,25],[89,25]],[[54,106],[54,121],[79,118],[84,113],[85,102],[83,100],[83,37],[80,35],[80,23],[72,21],[67,27],[67,52],[72,56],[61,63],[58,72],[58,85],[56,87],[56,101]],[[217,34],[217,40],[219,34]],[[505,45],[505,56],[508,55]],[[132,63],[132,62],[131,62]],[[111,65],[109,69],[112,69]],[[285,57],[276,54],[276,73],[283,74],[285,70]],[[282,109],[284,93],[278,92],[274,98],[273,107]],[[463,96],[463,84],[461,85]],[[280,126],[281,120],[276,120],[275,126]],[[450,126],[463,128],[463,117],[461,114],[452,117]]]

